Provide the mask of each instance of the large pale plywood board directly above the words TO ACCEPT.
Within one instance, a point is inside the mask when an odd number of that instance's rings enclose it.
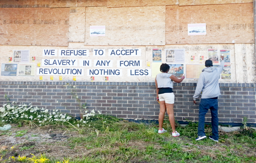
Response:
[[[85,45],[164,45],[165,6],[87,7]],[[90,26],[106,26],[105,37],[90,37]]]

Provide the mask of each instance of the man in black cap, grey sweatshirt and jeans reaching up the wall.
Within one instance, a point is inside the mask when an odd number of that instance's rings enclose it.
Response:
[[[202,92],[199,105],[198,137],[195,140],[206,138],[204,132],[204,118],[208,109],[210,109],[212,115],[212,136],[209,136],[209,138],[218,142],[218,96],[221,94],[218,79],[224,68],[224,56],[221,56],[220,66],[212,67],[212,60],[206,60],[205,66],[206,68],[204,68],[200,74],[193,96],[194,104],[196,104],[195,100]]]

